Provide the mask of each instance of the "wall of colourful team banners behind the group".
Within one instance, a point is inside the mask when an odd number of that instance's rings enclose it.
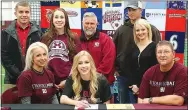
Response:
[[[14,6],[17,2],[2,2],[2,20],[11,21],[15,19]],[[33,2],[32,21],[36,21],[43,31],[49,27],[48,16],[55,8],[64,8],[69,15],[71,29],[78,34],[82,29],[82,16],[86,11],[96,13],[99,21],[98,29],[112,36],[114,31],[127,19],[125,9],[127,1],[97,1],[96,5],[84,1],[43,1]],[[186,7],[188,2],[183,1],[162,1],[143,2],[143,17],[155,25],[161,32],[162,39],[171,41],[180,62],[184,60],[185,34],[186,32]],[[90,8],[88,8],[90,7]],[[10,14],[7,14],[10,13]]]

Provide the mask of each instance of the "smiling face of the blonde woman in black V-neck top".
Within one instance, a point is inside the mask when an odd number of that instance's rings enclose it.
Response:
[[[145,40],[148,38],[148,29],[144,25],[137,24],[135,27],[135,34],[139,41]]]

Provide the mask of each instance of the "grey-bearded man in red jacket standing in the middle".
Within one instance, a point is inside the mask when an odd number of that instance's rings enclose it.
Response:
[[[83,50],[87,50],[95,61],[97,72],[106,76],[108,82],[114,82],[115,45],[105,33],[97,30],[97,16],[86,12],[83,16],[83,32],[80,37]]]

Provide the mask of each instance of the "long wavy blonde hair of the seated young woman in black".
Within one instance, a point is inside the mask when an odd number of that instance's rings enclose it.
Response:
[[[87,51],[80,51],[73,60],[73,65],[72,65],[72,69],[71,69],[71,73],[72,73],[72,80],[73,80],[73,91],[75,93],[75,100],[79,100],[80,97],[80,92],[82,91],[82,85],[81,85],[81,76],[80,73],[78,71],[78,63],[79,63],[79,59],[82,56],[87,56],[91,65],[91,71],[90,71],[90,84],[89,84],[89,89],[90,89],[90,93],[91,93],[91,101],[92,103],[96,103],[97,99],[95,98],[95,94],[98,90],[98,73],[96,72],[96,67],[95,67],[95,63],[94,60],[92,58],[92,56],[87,52]]]

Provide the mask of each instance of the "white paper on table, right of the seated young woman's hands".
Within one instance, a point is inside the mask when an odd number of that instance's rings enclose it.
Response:
[[[106,105],[107,109],[135,109],[133,104],[107,104]]]

